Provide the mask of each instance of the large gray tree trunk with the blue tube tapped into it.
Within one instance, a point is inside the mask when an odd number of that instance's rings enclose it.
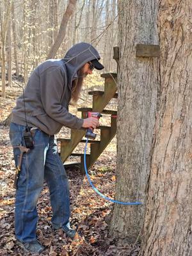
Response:
[[[143,226],[150,149],[157,104],[157,58],[136,58],[136,44],[157,44],[157,1],[118,1],[120,70],[118,72],[116,199],[111,236],[135,241]]]

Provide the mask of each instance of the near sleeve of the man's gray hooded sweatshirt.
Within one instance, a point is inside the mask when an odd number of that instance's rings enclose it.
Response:
[[[83,119],[77,118],[61,105],[64,84],[63,72],[60,67],[49,67],[40,74],[40,93],[45,112],[56,122],[71,129],[81,129]]]

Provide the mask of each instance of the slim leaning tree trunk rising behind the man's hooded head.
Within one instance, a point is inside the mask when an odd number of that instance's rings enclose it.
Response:
[[[61,20],[61,25],[60,25],[60,30],[58,32],[58,36],[56,37],[56,40],[51,47],[51,50],[47,56],[47,60],[54,58],[61,43],[63,42],[63,39],[65,38],[65,34],[66,34],[65,32],[66,32],[68,20],[70,19],[70,16],[72,15],[72,13],[75,10],[76,3],[77,3],[77,0],[69,0],[68,1],[67,9],[66,9],[65,13],[63,14],[63,19]]]

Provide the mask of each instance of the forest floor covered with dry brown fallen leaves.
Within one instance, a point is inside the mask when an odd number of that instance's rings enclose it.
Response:
[[[15,239],[15,189],[13,189],[15,164],[8,136],[9,128],[2,125],[3,120],[6,119],[13,106],[15,106],[15,99],[21,93],[22,89],[15,85],[12,88],[6,88],[6,99],[0,97],[0,255],[31,255],[30,253],[24,253],[17,246]],[[84,100],[81,100],[81,106],[87,106],[84,103]],[[70,108],[70,111],[76,114],[76,108]],[[102,124],[108,123],[107,119],[101,121]],[[70,138],[69,129],[61,129],[57,138],[61,137]],[[84,145],[79,147],[81,152],[83,152],[83,147]],[[111,141],[89,171],[97,189],[111,198],[115,196],[115,170],[116,138]],[[67,170],[67,174],[70,183],[71,224],[77,228],[79,235],[71,240],[65,237],[61,230],[57,232],[52,230],[49,191],[46,184],[44,184],[37,206],[39,220],[36,233],[40,243],[45,246],[41,255],[138,255],[139,244],[118,246],[118,241],[109,237],[108,224],[113,204],[95,194],[80,170]]]

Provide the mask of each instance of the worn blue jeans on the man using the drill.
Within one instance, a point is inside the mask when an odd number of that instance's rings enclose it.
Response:
[[[13,146],[24,145],[25,126],[11,123],[10,141]],[[52,207],[52,225],[56,228],[69,224],[70,202],[68,178],[58,155],[54,136],[39,129],[33,130],[34,148],[22,156],[20,176],[15,198],[15,235],[19,241],[36,240],[38,213],[36,204],[44,185],[49,186]],[[19,161],[20,150],[13,148],[15,165]]]

